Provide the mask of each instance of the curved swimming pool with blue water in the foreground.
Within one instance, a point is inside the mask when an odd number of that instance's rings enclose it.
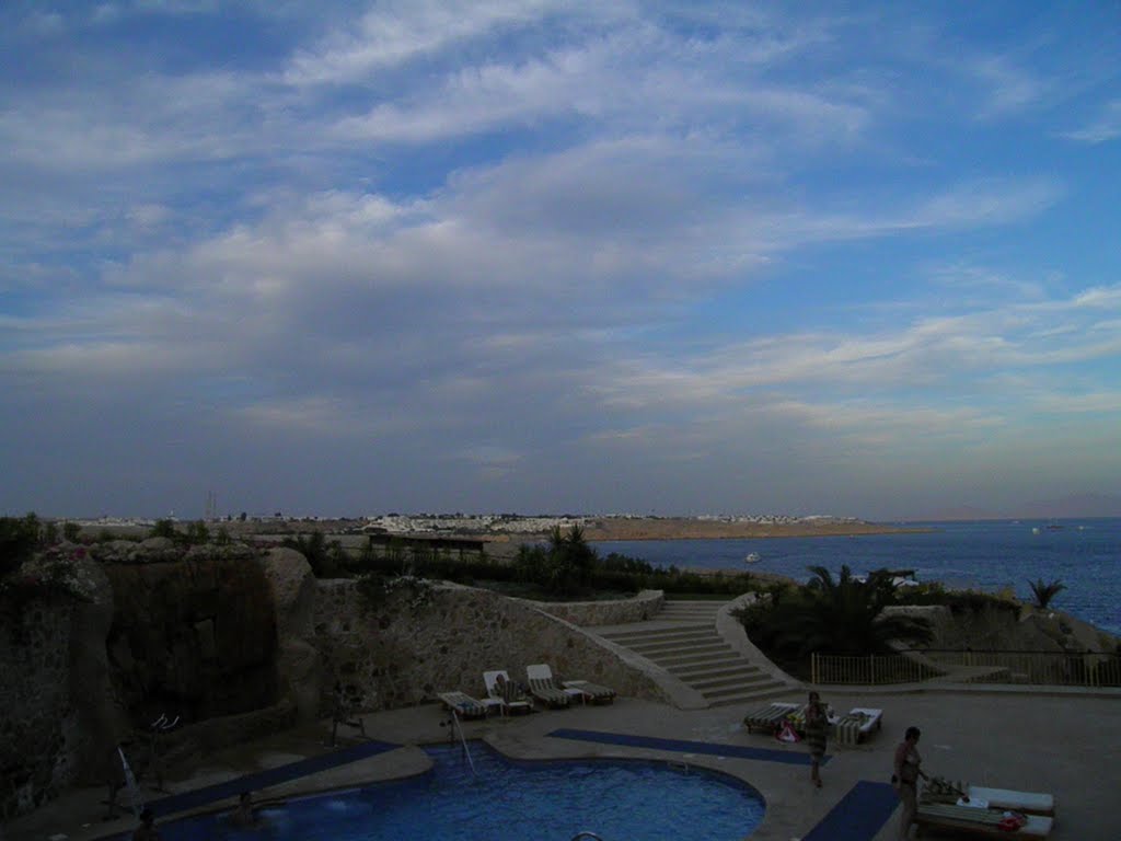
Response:
[[[224,815],[161,823],[164,841],[741,841],[762,821],[762,796],[734,777],[648,760],[507,759],[471,742],[429,747],[433,769],[408,779],[291,800],[260,812],[258,830]]]

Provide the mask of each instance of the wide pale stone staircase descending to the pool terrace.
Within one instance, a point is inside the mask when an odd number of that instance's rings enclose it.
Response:
[[[753,665],[716,631],[717,601],[667,601],[655,619],[586,630],[661,666],[710,706],[750,705],[796,687]]]

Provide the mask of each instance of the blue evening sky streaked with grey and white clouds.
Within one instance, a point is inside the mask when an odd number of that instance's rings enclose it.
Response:
[[[1121,514],[1119,43],[7,0],[0,514]]]

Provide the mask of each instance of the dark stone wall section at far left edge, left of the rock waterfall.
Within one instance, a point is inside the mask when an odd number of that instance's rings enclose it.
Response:
[[[57,796],[75,775],[77,712],[71,693],[73,599],[0,602],[0,817]]]

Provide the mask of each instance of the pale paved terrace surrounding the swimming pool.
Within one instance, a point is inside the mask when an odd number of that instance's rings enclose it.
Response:
[[[611,706],[577,706],[519,718],[465,722],[464,730],[469,739],[485,739],[503,754],[520,759],[651,757],[723,770],[749,782],[766,797],[767,815],[751,835],[752,841],[791,841],[810,835],[845,794],[862,780],[887,782],[896,743],[908,726],[916,724],[923,729],[919,748],[928,773],[979,785],[1053,793],[1057,817],[1050,838],[1055,841],[1121,839],[1121,805],[1117,798],[1117,793],[1121,792],[1121,693],[1051,691],[1045,694],[1025,687],[1006,691],[910,687],[850,693],[826,687],[823,694],[840,709],[882,708],[884,718],[882,731],[874,733],[869,742],[855,748],[831,746],[823,769],[825,785],[821,789],[810,787],[805,765],[749,758],[759,751],[735,750],[766,749],[765,757],[777,750],[789,754],[791,759],[805,755],[803,745],[786,746],[769,736],[749,734],[740,724],[748,706],[679,710],[624,697]],[[800,696],[791,694],[789,700],[800,700]],[[402,747],[257,788],[254,800],[260,802],[419,773],[427,767],[428,760],[416,746],[446,741],[447,728],[441,727],[446,718],[436,704],[367,715],[369,739]],[[706,749],[705,752],[661,750],[549,736],[560,729],[705,742]],[[325,745],[328,737],[327,721],[279,733],[206,757],[192,766],[172,768],[165,784],[174,793],[219,783],[232,783],[229,791],[237,791],[241,784],[235,780],[244,775],[325,756],[331,751]],[[362,741],[348,732],[340,739],[340,747],[353,748]],[[729,748],[730,756],[720,755],[722,746]],[[349,758],[361,752],[361,749],[352,749]],[[168,820],[158,802],[166,795],[151,791],[145,794],[159,820]],[[65,835],[73,841],[86,841],[130,830],[135,825],[131,817],[102,820],[104,796],[103,788],[73,791],[47,807],[4,825],[3,839],[48,841],[54,838],[62,841],[58,837]],[[233,804],[234,800],[226,796],[198,808],[231,808]],[[872,830],[872,834],[865,833],[861,839],[846,834],[844,841],[895,841],[897,814],[887,824]],[[565,841],[581,829],[594,828],[584,826],[580,816],[574,815],[571,832],[566,829],[562,833]],[[822,837],[821,832],[813,835],[814,839]],[[924,838],[952,835],[927,832]]]

